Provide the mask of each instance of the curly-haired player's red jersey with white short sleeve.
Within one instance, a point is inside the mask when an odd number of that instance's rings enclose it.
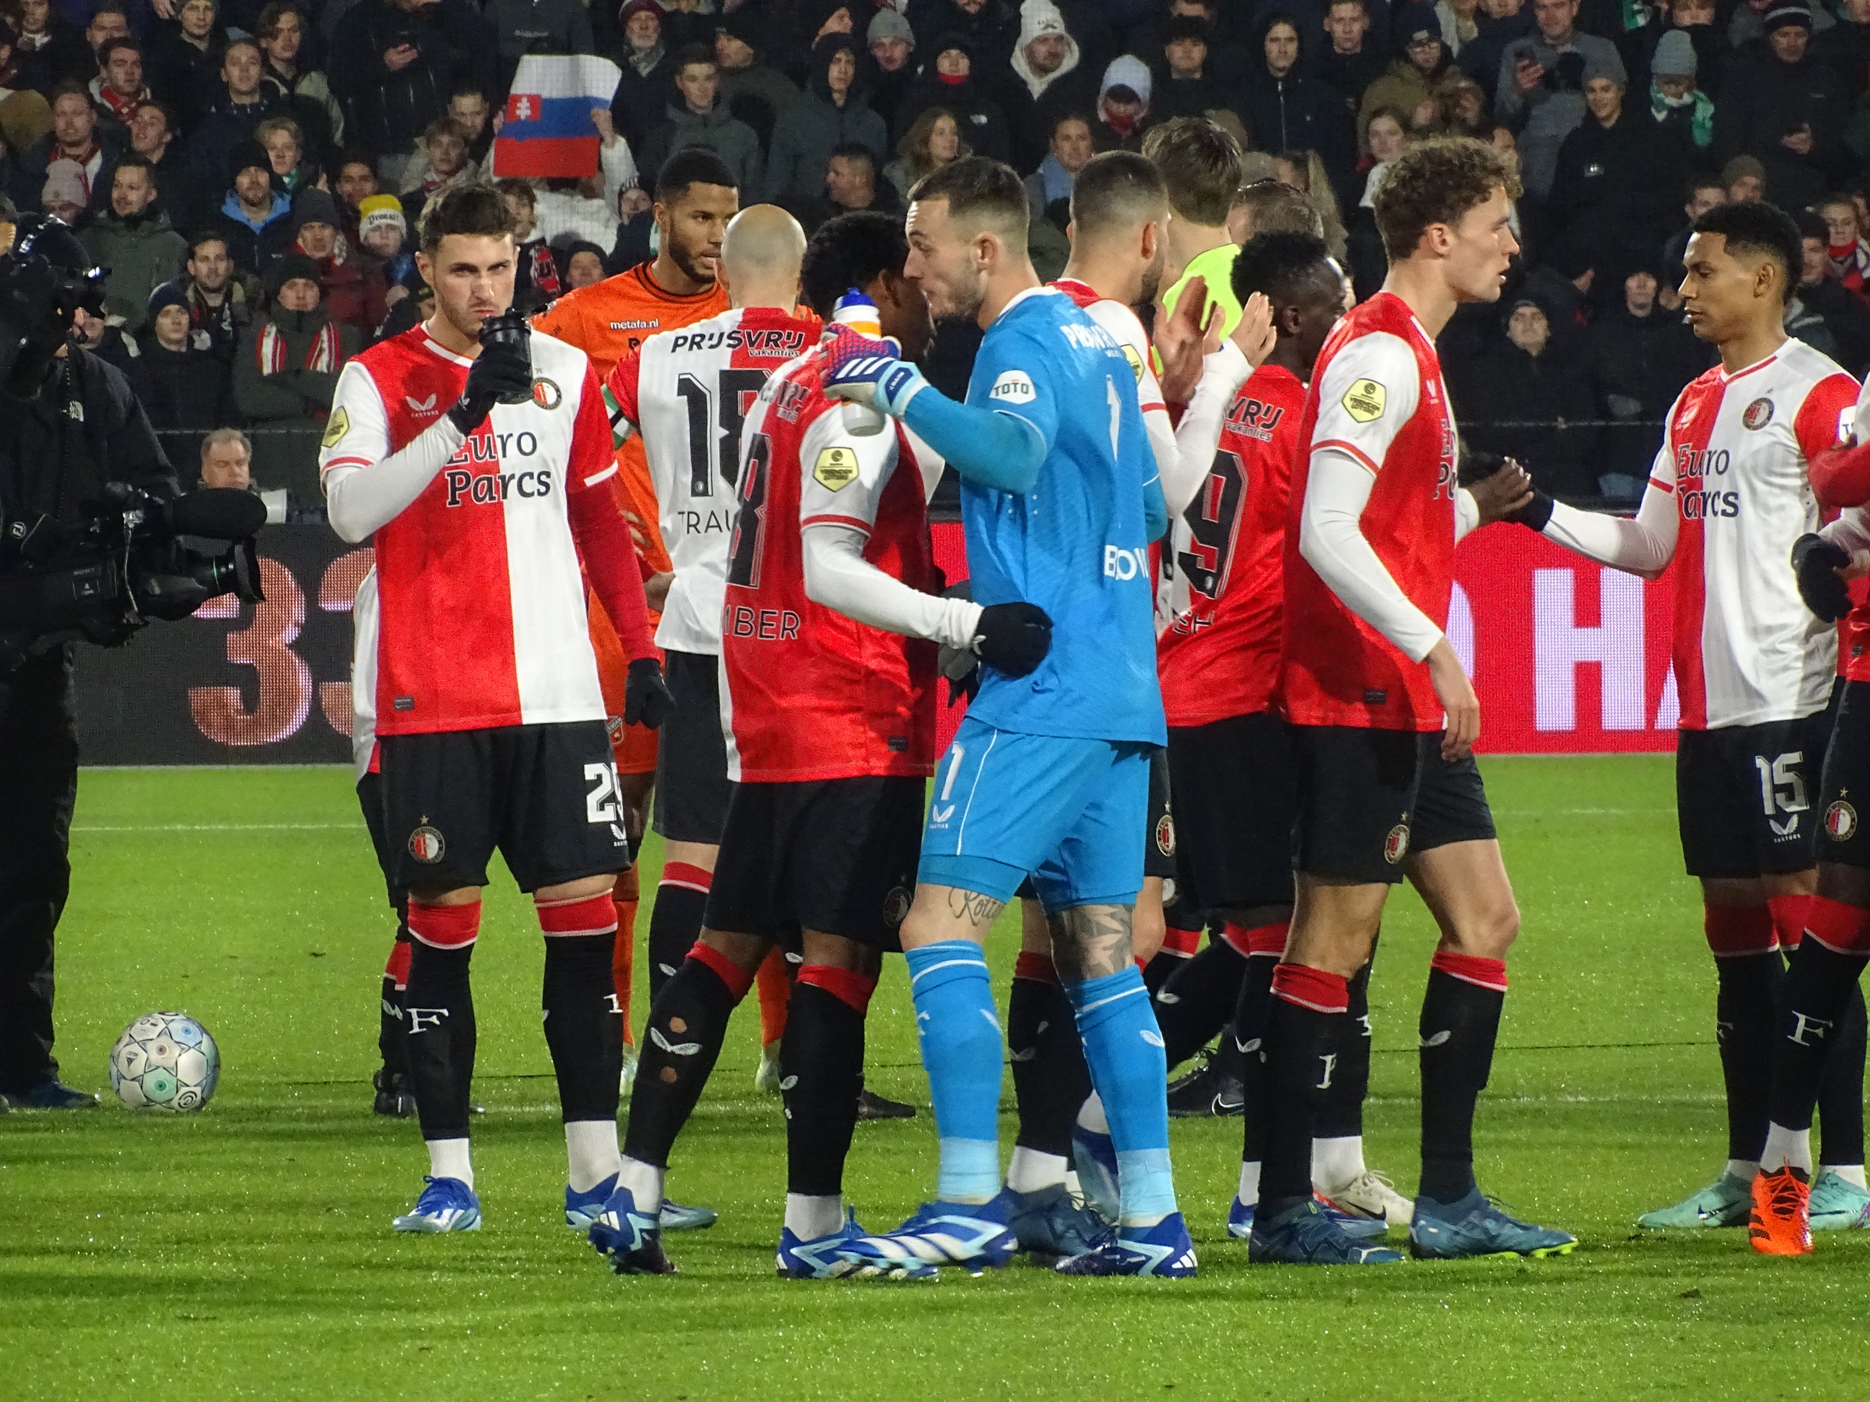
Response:
[[[1294,725],[1438,731],[1429,664],[1359,619],[1300,555],[1311,454],[1331,447],[1376,475],[1359,529],[1389,578],[1436,628],[1455,591],[1455,415],[1442,361],[1408,303],[1378,292],[1318,351],[1285,538],[1279,688]]]

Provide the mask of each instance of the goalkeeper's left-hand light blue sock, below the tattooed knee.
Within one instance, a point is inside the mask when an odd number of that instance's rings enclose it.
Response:
[[[935,1101],[935,1133],[941,1137],[935,1196],[942,1202],[987,1202],[1000,1191],[1002,1066],[987,957],[971,940],[924,944],[905,957],[922,1066]]]

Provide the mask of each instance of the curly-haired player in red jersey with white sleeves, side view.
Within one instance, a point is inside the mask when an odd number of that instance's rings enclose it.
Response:
[[[1444,632],[1455,540],[1474,518],[1434,336],[1457,305],[1500,297],[1518,249],[1515,189],[1511,166],[1475,140],[1423,142],[1399,157],[1376,194],[1389,277],[1339,322],[1305,396],[1281,656],[1298,877],[1262,1036],[1268,1144],[1253,1260],[1399,1260],[1313,1206],[1311,1133],[1345,1036],[1346,980],[1369,959],[1402,875],[1442,931],[1421,1009],[1412,1249],[1545,1256],[1575,1245],[1513,1221],[1474,1183],[1474,1103],[1492,1064],[1518,912],[1472,755],[1479,701]]]

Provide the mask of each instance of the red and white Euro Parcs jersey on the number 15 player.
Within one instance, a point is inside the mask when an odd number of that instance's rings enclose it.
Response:
[[[1857,381],[1788,340],[1694,379],[1668,411],[1649,486],[1676,495],[1676,688],[1690,731],[1823,710],[1836,628],[1799,598],[1786,563],[1816,531],[1814,452],[1849,430]]]

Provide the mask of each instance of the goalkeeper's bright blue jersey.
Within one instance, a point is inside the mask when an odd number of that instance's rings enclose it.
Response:
[[[1156,458],[1116,338],[1051,288],[1008,303],[974,357],[971,406],[1045,439],[1025,495],[961,480],[976,604],[1038,604],[1053,647],[1038,671],[984,669],[969,714],[1002,731],[1163,744],[1144,492]]]

